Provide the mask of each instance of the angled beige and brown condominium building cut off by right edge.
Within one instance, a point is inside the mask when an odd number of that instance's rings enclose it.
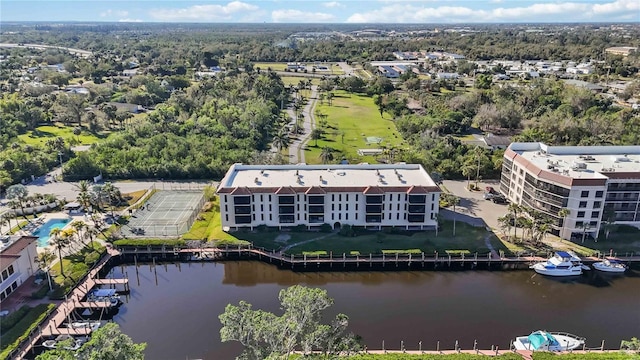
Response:
[[[564,239],[597,237],[607,222],[640,227],[640,146],[512,143],[500,192],[550,216]]]

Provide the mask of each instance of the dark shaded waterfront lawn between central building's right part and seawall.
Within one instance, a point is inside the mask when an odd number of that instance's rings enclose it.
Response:
[[[319,234],[321,235],[321,234]],[[365,232],[364,235],[356,237],[343,237],[332,234],[327,238],[302,244],[291,248],[288,252],[301,254],[304,252],[327,251],[333,254],[350,254],[359,252],[360,254],[381,254],[385,250],[398,250],[403,253],[420,253],[432,255],[437,251],[441,256],[446,251],[460,252],[467,250],[468,254],[478,252],[487,254],[489,250],[485,246],[484,237],[487,231],[484,228],[475,228],[471,225],[458,222],[456,224],[456,236],[453,237],[453,223],[442,222],[442,229],[436,236],[435,231],[421,231],[407,235],[386,234],[383,232]],[[506,250],[504,246],[492,236],[491,243],[496,251]],[[455,255],[459,256],[459,255]]]

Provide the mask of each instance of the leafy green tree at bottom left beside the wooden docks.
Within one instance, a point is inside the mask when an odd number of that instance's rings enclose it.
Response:
[[[37,360],[142,360],[146,343],[136,344],[120,331],[120,326],[110,322],[91,334],[91,339],[73,352],[56,349],[42,353]],[[74,356],[75,355],[75,356]]]

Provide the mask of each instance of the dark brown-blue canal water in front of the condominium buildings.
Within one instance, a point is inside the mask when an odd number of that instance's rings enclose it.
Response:
[[[278,292],[294,284],[326,289],[327,314],[350,318],[369,349],[506,349],[531,331],[566,331],[588,347],[618,348],[640,336],[640,274],[589,272],[574,279],[533,271],[296,273],[253,261],[115,267],[131,294],[114,320],[149,359],[232,359],[241,351],[220,341],[218,315],[246,300],[278,312]]]

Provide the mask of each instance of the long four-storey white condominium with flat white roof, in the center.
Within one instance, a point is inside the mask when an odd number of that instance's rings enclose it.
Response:
[[[435,229],[440,199],[440,188],[413,164],[235,164],[217,192],[226,230],[323,224]]]

